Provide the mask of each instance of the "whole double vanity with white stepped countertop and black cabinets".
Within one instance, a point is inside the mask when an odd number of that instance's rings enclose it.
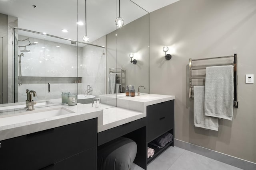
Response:
[[[48,103],[26,111],[16,104],[13,111],[0,114],[0,169],[96,170],[97,148],[121,136],[136,142],[134,163],[146,169],[167,147],[174,146],[172,141],[147,158],[148,143],[166,132],[174,137],[175,96],[122,95],[114,100],[111,95],[100,96],[103,100],[97,108]],[[109,108],[104,98],[117,107]]]

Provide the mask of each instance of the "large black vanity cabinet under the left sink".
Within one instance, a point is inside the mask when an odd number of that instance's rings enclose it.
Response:
[[[1,170],[94,170],[97,164],[97,119],[0,143]]]

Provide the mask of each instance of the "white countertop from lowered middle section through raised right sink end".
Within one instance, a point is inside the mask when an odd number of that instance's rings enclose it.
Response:
[[[135,97],[124,94],[123,96],[117,98],[117,107],[103,109],[103,124],[98,126],[98,132],[146,117],[147,106],[175,99],[175,96],[160,94],[143,94]],[[113,94],[110,95],[110,98],[112,97]]]

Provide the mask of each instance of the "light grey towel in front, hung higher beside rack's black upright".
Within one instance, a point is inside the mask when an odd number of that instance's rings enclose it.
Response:
[[[232,120],[233,66],[206,67],[204,111],[206,116]]]

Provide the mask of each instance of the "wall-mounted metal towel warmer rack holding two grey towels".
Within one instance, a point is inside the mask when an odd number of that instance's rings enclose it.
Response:
[[[232,56],[223,56],[223,57],[212,57],[212,58],[203,58],[203,59],[189,59],[189,69],[188,69],[188,76],[189,76],[189,81],[188,81],[188,88],[189,88],[189,93],[188,93],[188,98],[193,98],[194,96],[192,95],[192,88],[194,88],[194,86],[192,85],[192,79],[205,79],[205,77],[192,77],[192,70],[204,70],[206,69],[205,67],[202,68],[193,68],[193,64],[192,61],[201,61],[201,60],[211,60],[211,59],[224,59],[224,58],[234,58],[234,63],[232,63],[233,67],[234,67],[234,108],[238,108],[238,81],[237,81],[237,77],[238,77],[238,55],[234,54]],[[227,64],[215,64],[215,66],[217,65],[227,65]],[[209,65],[209,66],[213,66],[213,65]]]

